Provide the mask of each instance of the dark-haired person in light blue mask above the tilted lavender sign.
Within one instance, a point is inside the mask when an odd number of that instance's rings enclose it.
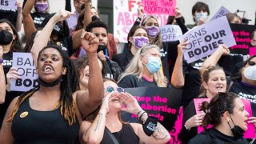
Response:
[[[192,7],[192,16],[194,24],[187,25],[187,28],[192,29],[194,26],[204,24],[210,14],[209,6],[204,2],[196,2]]]

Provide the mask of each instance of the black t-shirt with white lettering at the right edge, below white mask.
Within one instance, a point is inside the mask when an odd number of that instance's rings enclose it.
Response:
[[[230,88],[230,92],[238,94],[240,98],[249,99],[251,110],[256,117],[256,86],[250,86],[244,82],[235,81]]]

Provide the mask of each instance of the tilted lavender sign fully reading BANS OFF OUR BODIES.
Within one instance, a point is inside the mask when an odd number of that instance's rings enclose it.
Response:
[[[236,45],[226,17],[195,27],[182,35],[180,42],[184,39],[189,42],[187,49],[184,49],[184,58],[188,63],[213,54],[220,44],[228,47]]]

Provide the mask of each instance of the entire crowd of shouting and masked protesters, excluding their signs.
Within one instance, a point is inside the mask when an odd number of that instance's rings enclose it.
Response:
[[[118,54],[114,34],[90,0],[74,0],[74,12],[66,0],[65,10],[53,14],[48,0],[16,4],[17,10],[0,10],[0,143],[169,142],[158,118],[124,90],[136,87],[182,89],[182,143],[254,142],[243,133],[248,123],[256,127],[256,55],[234,58],[224,43],[209,57],[187,63],[187,40],[162,42],[158,18],[144,17],[141,4],[126,50]],[[206,3],[191,8],[194,24],[185,25],[178,8],[166,24],[178,25],[185,34],[207,22]],[[226,17],[242,25],[238,14]],[[256,29],[250,45],[256,46]],[[14,52],[32,54],[38,86],[29,91],[10,90],[11,80],[20,78],[12,66]],[[233,69],[227,61],[235,62]],[[250,99],[251,117],[239,96]],[[210,98],[202,102],[200,114],[194,98]],[[121,111],[136,114],[141,123],[124,122]],[[200,134],[198,126],[205,128]]]

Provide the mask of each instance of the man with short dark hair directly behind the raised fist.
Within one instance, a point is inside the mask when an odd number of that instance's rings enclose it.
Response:
[[[98,58],[105,62],[106,75],[105,78],[114,78],[118,80],[118,76],[122,73],[120,66],[117,62],[111,61],[108,55],[113,53],[110,49],[107,49],[108,44],[108,32],[107,26],[102,21],[93,21],[86,26],[86,31],[94,33],[99,39],[98,45]]]

